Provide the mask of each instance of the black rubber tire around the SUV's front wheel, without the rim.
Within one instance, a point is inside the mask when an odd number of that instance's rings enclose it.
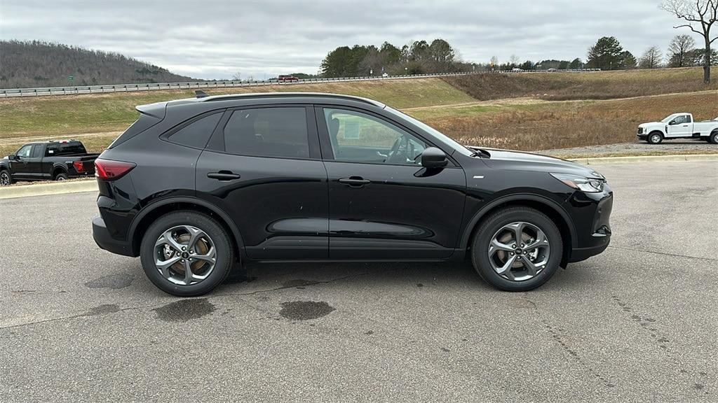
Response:
[[[545,267],[528,280],[508,280],[499,275],[489,260],[489,245],[494,235],[505,225],[514,222],[527,222],[535,225],[546,235],[549,241],[550,252]],[[563,240],[561,232],[546,214],[529,207],[507,207],[490,214],[477,229],[471,244],[471,261],[481,278],[495,288],[505,291],[528,291],[543,285],[556,270],[559,269],[563,256]],[[526,259],[526,257],[524,257]]]

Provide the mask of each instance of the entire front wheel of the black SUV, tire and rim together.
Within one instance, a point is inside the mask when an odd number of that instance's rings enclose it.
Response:
[[[528,224],[523,229],[519,229],[519,232],[523,234],[521,240],[534,243],[535,240],[541,239],[538,234],[540,231],[544,234],[543,239],[546,240],[547,246],[537,247],[531,251],[527,250],[528,253],[523,254],[521,245],[525,244],[520,242],[514,244],[516,232],[506,229],[516,223]],[[509,247],[516,245],[516,249],[498,250],[494,248],[493,251],[490,251],[490,245],[495,237],[500,238],[503,245]],[[510,237],[511,240],[505,237]],[[513,254],[516,250],[521,253],[516,254],[517,260],[514,260],[513,265],[520,267],[503,265],[503,267],[509,267],[508,272],[505,272],[504,275],[499,274],[502,258],[508,262],[508,259],[513,258],[509,257],[509,254]],[[519,255],[521,257],[518,257]],[[487,283],[505,291],[528,291],[543,285],[559,269],[562,256],[563,240],[556,223],[546,214],[529,207],[507,207],[490,214],[481,222],[471,244],[471,260],[475,270]],[[538,266],[533,266],[538,269],[535,275],[531,275],[531,272],[526,269],[528,267],[526,263],[530,262],[533,262],[532,265],[538,264]]]

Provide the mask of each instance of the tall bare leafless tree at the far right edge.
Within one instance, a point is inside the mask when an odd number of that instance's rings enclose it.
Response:
[[[706,44],[703,62],[703,82],[711,82],[711,44],[718,36],[711,38],[711,28],[718,19],[718,0],[664,0],[661,9],[670,12],[686,24],[673,28],[687,27],[701,34]],[[699,28],[695,26],[698,25]]]

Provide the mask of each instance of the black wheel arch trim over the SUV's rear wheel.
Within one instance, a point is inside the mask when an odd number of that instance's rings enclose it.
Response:
[[[240,258],[244,257],[244,242],[233,219],[214,204],[190,196],[170,197],[153,201],[134,217],[129,229],[129,242],[133,255],[139,256],[142,236],[152,222],[164,214],[179,210],[200,212],[217,219],[220,225],[222,225],[228,231],[230,237],[232,237],[231,242],[235,247],[235,252],[237,252],[236,256]]]

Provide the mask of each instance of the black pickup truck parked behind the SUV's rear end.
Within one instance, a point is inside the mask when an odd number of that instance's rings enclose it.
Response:
[[[95,159],[80,141],[27,143],[17,153],[0,159],[0,186],[14,181],[64,181],[94,176]]]

